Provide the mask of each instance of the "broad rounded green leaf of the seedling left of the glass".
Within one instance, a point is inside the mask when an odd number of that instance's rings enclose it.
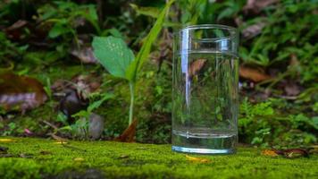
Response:
[[[93,48],[97,60],[108,72],[130,80],[126,77],[126,71],[134,60],[134,54],[121,38],[95,37]]]

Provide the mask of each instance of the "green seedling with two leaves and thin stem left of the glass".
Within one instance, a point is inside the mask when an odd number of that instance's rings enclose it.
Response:
[[[154,27],[146,36],[145,43],[141,47],[138,55],[134,56],[133,52],[125,44],[121,38],[113,37],[95,37],[93,40],[94,53],[101,64],[113,76],[120,77],[129,81],[130,83],[130,117],[129,124],[133,119],[133,107],[135,96],[135,85],[137,81],[138,71],[142,64],[146,61],[150,53],[152,43],[158,36],[163,27],[163,21],[169,7],[172,5],[173,0],[164,7],[162,13],[159,14]]]

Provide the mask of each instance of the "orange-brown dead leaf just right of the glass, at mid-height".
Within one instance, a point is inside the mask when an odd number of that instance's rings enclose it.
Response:
[[[239,66],[239,76],[250,81],[260,82],[271,79],[268,74],[247,66]]]

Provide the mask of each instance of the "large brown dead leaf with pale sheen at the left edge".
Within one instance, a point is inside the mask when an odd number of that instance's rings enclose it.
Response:
[[[46,99],[46,91],[37,79],[13,72],[0,74],[0,107],[5,110],[24,112],[42,105]]]

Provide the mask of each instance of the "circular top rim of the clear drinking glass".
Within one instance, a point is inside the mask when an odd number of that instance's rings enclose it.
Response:
[[[182,31],[186,31],[186,30],[211,30],[211,29],[219,29],[219,30],[229,30],[230,31],[230,35],[229,36],[224,36],[222,38],[208,38],[208,39],[224,39],[224,38],[236,38],[236,36],[238,35],[238,29],[231,27],[231,26],[227,26],[227,25],[222,25],[222,24],[197,24],[197,25],[188,25],[185,26],[183,28],[181,28],[180,30],[177,30],[176,32],[174,32],[172,35],[173,36],[178,36],[180,35],[180,33]]]

